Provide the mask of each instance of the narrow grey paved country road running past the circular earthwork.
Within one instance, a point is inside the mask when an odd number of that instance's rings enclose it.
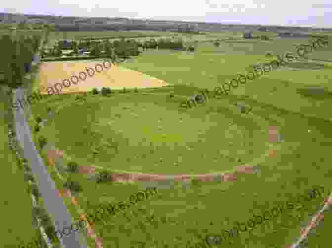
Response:
[[[39,57],[40,55],[37,54],[34,57],[33,63],[38,63]],[[24,89],[22,87],[13,91],[16,99],[23,99]],[[30,106],[25,106],[24,108],[27,107]],[[52,220],[55,221],[56,231],[62,231],[65,227],[70,228],[72,224],[72,216],[68,212],[67,206],[63,202],[63,198],[58,197],[55,182],[48,174],[47,168],[44,166],[44,162],[35,147],[35,143],[32,141],[31,129],[27,124],[24,110],[21,108],[18,110],[13,109],[13,112],[17,141],[23,148],[24,157],[27,159],[31,166],[31,171],[39,183],[39,192],[42,195],[45,210],[49,213]],[[68,232],[69,231],[66,228],[66,233]],[[57,235],[59,237],[59,234]],[[73,232],[69,236],[64,236],[60,241],[63,248],[87,248],[86,240],[80,232]]]

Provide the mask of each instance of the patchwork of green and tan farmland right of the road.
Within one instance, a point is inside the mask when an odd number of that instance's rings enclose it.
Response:
[[[45,47],[55,44],[56,35],[50,33]],[[249,220],[252,211],[261,214],[315,186],[325,187],[321,197],[248,227],[221,246],[279,248],[295,242],[331,193],[331,34],[329,44],[308,58],[248,80],[228,95],[181,107],[313,39],[268,35],[268,40],[246,39],[230,28],[183,35],[182,50],[160,48],[161,42],[124,60],[114,54],[84,60],[75,55],[41,63],[28,91],[39,91],[44,99],[29,106],[28,123],[63,192],[56,197],[73,220],[88,221],[89,247],[194,247]],[[126,39],[145,42],[135,35]],[[107,50],[107,41],[101,48]],[[47,94],[56,83],[105,61],[109,69]],[[151,187],[158,190],[154,197],[119,207],[114,215],[99,211],[98,206],[126,203]],[[89,221],[92,215],[98,220]],[[324,228],[310,236],[313,247],[328,242],[331,225],[326,214]]]

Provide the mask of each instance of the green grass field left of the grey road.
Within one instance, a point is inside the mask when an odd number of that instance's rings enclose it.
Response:
[[[0,247],[16,247],[31,242],[36,237],[38,229],[33,226],[32,199],[28,193],[28,182],[24,180],[23,171],[18,169],[15,154],[8,146],[8,110],[7,95],[0,91],[0,110],[2,113],[0,124],[1,175],[0,184],[2,213],[0,233]]]

